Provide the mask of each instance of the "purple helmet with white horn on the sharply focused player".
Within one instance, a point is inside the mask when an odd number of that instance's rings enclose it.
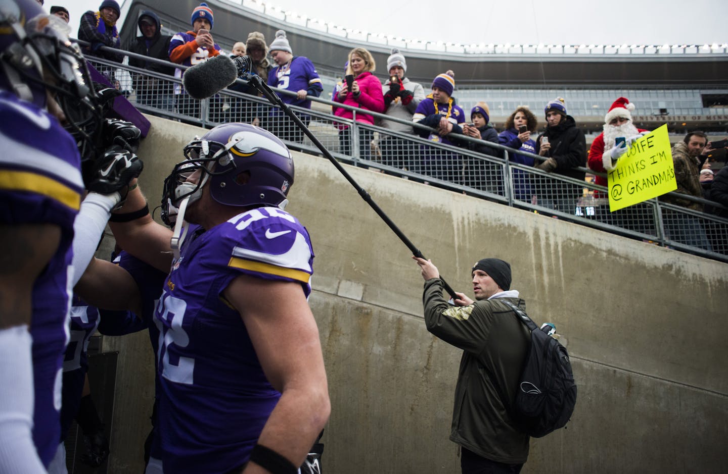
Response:
[[[293,185],[293,158],[274,134],[249,124],[215,126],[184,148],[186,161],[177,164],[165,180],[162,207],[194,202],[210,182],[210,196],[228,206],[277,206],[288,203]],[[202,170],[197,184],[186,182]],[[169,201],[167,201],[169,198]]]

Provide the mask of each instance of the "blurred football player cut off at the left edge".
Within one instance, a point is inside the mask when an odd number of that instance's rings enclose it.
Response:
[[[108,218],[141,163],[99,150],[101,100],[67,32],[36,1],[0,1],[0,473],[45,472],[57,451],[74,221]]]

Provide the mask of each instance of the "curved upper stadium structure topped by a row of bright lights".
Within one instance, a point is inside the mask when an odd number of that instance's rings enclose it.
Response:
[[[135,21],[151,9],[170,28],[189,28],[198,0],[132,0],[127,2],[122,43],[139,34]],[[124,4],[124,7],[127,7]],[[612,87],[726,87],[728,46],[721,45],[507,45],[441,44],[371,35],[325,25],[319,20],[242,7],[230,1],[207,0],[215,13],[213,37],[230,49],[251,31],[266,41],[284,29],[293,52],[309,57],[323,71],[342,71],[354,47],[368,49],[385,76],[387,56],[397,47],[408,60],[408,77],[428,83],[452,69],[459,87],[473,86],[599,86]],[[246,2],[250,4],[250,2]],[[256,6],[258,4],[253,4]]]

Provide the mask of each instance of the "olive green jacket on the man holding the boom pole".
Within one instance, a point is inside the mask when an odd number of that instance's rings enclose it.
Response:
[[[463,350],[451,441],[486,459],[520,464],[529,456],[529,435],[518,430],[508,407],[515,399],[530,334],[502,299],[526,310],[515,291],[451,306],[443,297],[442,280],[432,278],[424,283],[424,320],[428,331]]]

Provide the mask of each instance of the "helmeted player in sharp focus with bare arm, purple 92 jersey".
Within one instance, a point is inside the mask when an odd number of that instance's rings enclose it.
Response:
[[[331,406],[306,301],[314,254],[283,210],[293,159],[247,124],[216,126],[185,156],[165,180],[174,231],[140,212],[138,188],[118,211],[135,218],[110,222],[122,248],[170,270],[155,313],[162,469],[296,473]],[[116,304],[138,300],[108,287]]]

